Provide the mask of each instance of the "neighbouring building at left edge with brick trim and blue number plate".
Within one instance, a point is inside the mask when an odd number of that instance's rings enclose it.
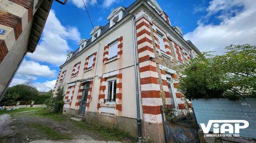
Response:
[[[0,101],[41,37],[53,0],[0,0]]]

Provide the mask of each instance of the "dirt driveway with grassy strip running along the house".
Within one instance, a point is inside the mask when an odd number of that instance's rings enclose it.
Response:
[[[56,121],[35,115],[35,112],[4,114],[5,123],[0,127],[0,143],[27,143],[35,140],[97,140],[109,141],[101,134],[81,128],[71,120]],[[1,122],[0,122],[1,123]],[[55,135],[55,136],[54,136]],[[55,139],[56,138],[56,139]]]

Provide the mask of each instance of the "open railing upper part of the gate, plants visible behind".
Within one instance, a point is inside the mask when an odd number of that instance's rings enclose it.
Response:
[[[163,105],[162,110],[165,124],[198,128],[193,108],[172,108]]]

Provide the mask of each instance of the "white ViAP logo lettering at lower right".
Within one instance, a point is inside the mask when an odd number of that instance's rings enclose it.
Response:
[[[215,123],[215,124],[213,124]],[[239,133],[240,129],[245,129],[249,126],[249,123],[245,120],[209,120],[207,126],[205,124],[200,124],[201,128],[203,130],[203,133],[209,133],[211,126],[213,124],[213,133],[219,133],[219,124],[218,123],[225,123],[221,125],[221,132],[225,133],[226,131],[228,133]],[[229,123],[235,123],[234,127],[233,125]],[[244,125],[240,126],[240,123],[244,123]],[[228,128],[226,128],[228,127]]]

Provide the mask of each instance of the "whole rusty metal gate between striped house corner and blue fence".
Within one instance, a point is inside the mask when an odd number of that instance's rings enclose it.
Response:
[[[161,106],[166,143],[200,143],[193,108]]]

